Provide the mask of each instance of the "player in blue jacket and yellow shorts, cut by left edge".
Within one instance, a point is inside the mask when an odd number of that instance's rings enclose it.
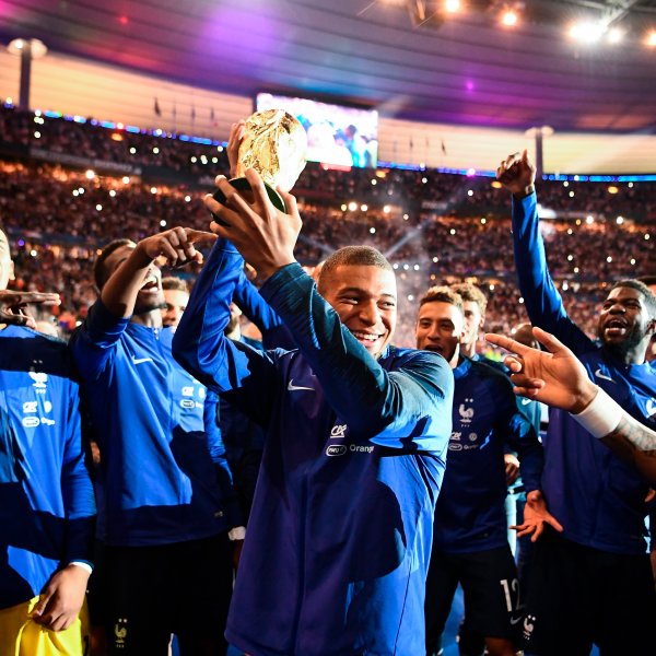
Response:
[[[12,272],[0,231],[0,655],[82,656],[95,503],[78,385],[66,344],[26,327],[26,304],[59,296],[5,291]]]

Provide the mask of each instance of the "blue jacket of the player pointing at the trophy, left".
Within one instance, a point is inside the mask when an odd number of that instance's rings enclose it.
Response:
[[[221,481],[230,475],[223,446],[212,443],[218,432],[206,432],[207,390],[175,362],[171,339],[169,329],[116,317],[98,300],[70,342],[101,448],[107,544],[183,542],[229,528]]]

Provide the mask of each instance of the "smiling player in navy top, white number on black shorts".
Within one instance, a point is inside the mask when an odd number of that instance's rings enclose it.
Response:
[[[518,411],[511,382],[499,370],[460,355],[467,330],[462,298],[431,288],[420,301],[417,348],[434,351],[454,370],[453,433],[437,506],[426,579],[426,654],[440,653],[458,583],[469,631],[484,636],[491,656],[514,656],[518,642],[517,569],[507,540],[504,447],[520,459],[528,491],[524,534],[558,526],[540,493],[542,447]]]

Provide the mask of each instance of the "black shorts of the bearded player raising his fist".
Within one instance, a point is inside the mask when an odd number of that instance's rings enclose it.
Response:
[[[535,543],[522,625],[539,656],[656,654],[656,593],[649,558],[584,547],[549,528]]]

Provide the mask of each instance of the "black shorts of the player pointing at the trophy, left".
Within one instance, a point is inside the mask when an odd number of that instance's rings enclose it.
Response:
[[[223,653],[232,596],[232,547],[225,534],[153,547],[105,546],[103,614],[109,654]],[[94,571],[95,575],[95,571]]]

